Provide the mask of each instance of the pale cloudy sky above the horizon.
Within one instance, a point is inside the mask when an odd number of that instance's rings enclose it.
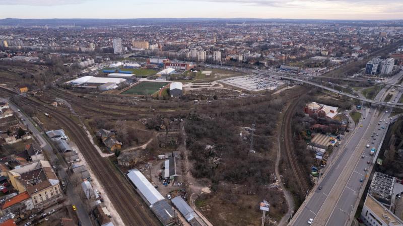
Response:
[[[403,19],[403,0],[0,0],[0,19]]]

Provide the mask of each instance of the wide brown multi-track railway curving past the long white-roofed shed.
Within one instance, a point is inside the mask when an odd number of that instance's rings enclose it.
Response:
[[[4,89],[2,89],[4,91]],[[15,94],[11,91],[2,93]],[[28,98],[21,98],[21,103],[31,107],[38,107],[40,102],[30,100]],[[57,120],[63,129],[71,134],[71,138],[76,142],[80,148],[86,162],[95,173],[98,180],[103,185],[108,197],[115,207],[116,211],[122,218],[126,226],[153,226],[161,225],[149,208],[143,203],[141,197],[135,192],[133,187],[125,180],[112,163],[107,159],[99,156],[97,150],[88,140],[87,134],[83,128],[78,125],[73,119],[65,116],[64,113],[58,110],[43,105],[42,109],[46,109],[49,114]]]

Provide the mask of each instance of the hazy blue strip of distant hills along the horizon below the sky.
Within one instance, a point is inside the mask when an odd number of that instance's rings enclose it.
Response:
[[[15,19],[6,18],[0,20],[1,25],[9,26],[60,26],[60,25],[75,25],[75,26],[119,26],[119,25],[147,25],[147,24],[172,24],[172,23],[340,23],[340,24],[375,24],[395,23],[396,25],[402,25],[402,20],[396,21],[365,21],[365,20],[296,20],[296,19],[254,19],[254,18],[232,18],[232,19],[220,19],[220,18],[139,18],[139,19]]]

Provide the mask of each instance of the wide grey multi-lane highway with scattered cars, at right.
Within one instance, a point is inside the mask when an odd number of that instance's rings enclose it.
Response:
[[[400,72],[398,76],[393,77],[391,82],[398,81],[402,74]],[[384,98],[387,89],[388,87],[382,89],[375,99]],[[392,100],[398,101],[400,96],[401,93],[396,91]],[[318,183],[322,189],[318,190],[318,185],[312,189],[289,225],[308,225],[309,218],[314,219],[312,225],[315,226],[345,225],[354,210],[356,201],[360,198],[361,188],[368,181],[367,177],[375,161],[374,156],[369,155],[370,149],[372,147],[377,150],[380,148],[381,137],[387,130],[386,122],[391,121],[388,118],[391,108],[383,109],[382,112],[379,112],[378,108],[373,106],[363,110],[363,117],[359,123],[359,125],[362,124],[362,127],[358,127],[342,147],[340,157],[327,166],[329,169],[326,169],[326,173]],[[381,119],[382,122],[379,121]],[[385,129],[381,129],[380,126],[385,126]],[[371,137],[374,131],[375,135]],[[367,144],[370,145],[369,148],[366,147]],[[370,164],[367,164],[368,161]],[[364,171],[365,168],[367,171]],[[360,182],[360,179],[363,179],[364,182]],[[354,215],[354,213],[352,214]]]

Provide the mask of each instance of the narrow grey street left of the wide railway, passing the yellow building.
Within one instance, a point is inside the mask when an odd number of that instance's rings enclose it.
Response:
[[[10,108],[16,113],[17,117],[20,118],[20,120],[23,121],[23,123],[29,128],[29,130],[32,132],[32,135],[35,136],[36,140],[39,141],[40,146],[46,152],[46,156],[49,158],[49,161],[51,163],[54,163],[57,160],[57,156],[53,153],[53,148],[47,141],[45,137],[43,137],[43,134],[39,132],[39,130],[35,127],[35,125],[32,123],[32,119],[27,117],[25,114],[22,112],[18,112],[18,107],[14,105],[13,103],[9,102]],[[66,178],[68,175],[65,172],[66,168],[61,168],[58,170],[58,175],[57,177],[59,178],[60,181],[66,181]],[[90,226],[93,225],[92,221],[88,215],[88,213],[85,211],[83,202],[81,199],[78,197],[77,194],[75,194],[73,190],[73,186],[70,184],[68,185],[66,189],[66,195],[67,199],[70,201],[72,205],[76,205],[77,207],[77,215],[82,222],[83,226]]]

